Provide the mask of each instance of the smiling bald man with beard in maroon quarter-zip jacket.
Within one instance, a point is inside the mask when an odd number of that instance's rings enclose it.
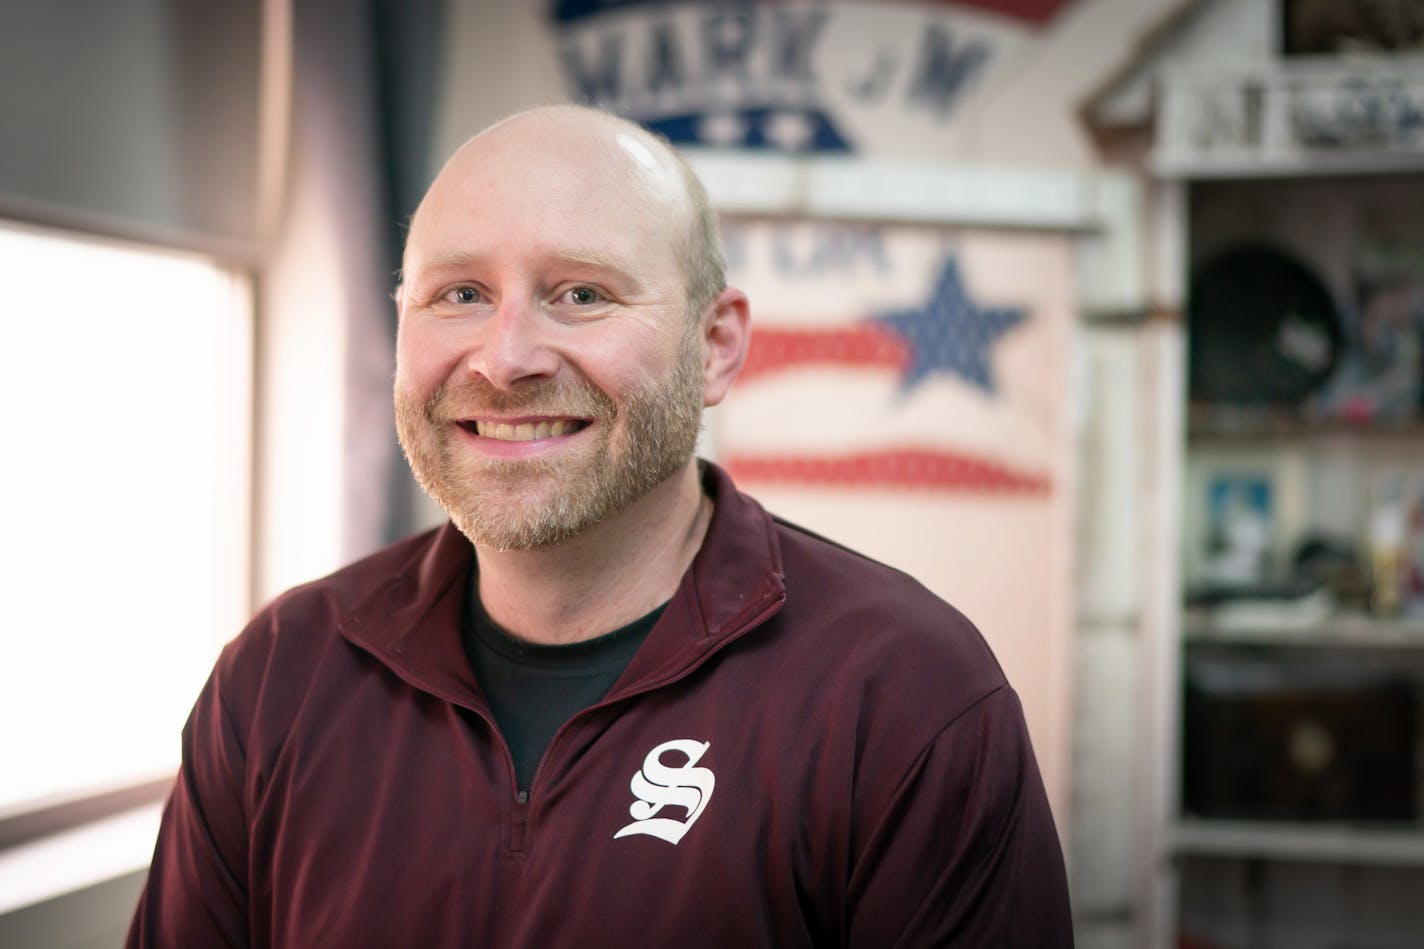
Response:
[[[494,125],[397,299],[400,442],[453,526],[228,645],[131,946],[1071,943],[975,630],[693,457],[748,302],[669,148]]]

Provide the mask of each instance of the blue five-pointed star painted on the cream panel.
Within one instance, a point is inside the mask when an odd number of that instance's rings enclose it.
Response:
[[[951,256],[923,306],[876,313],[870,319],[901,336],[910,348],[910,365],[900,378],[901,392],[933,372],[953,372],[995,395],[990,349],[1025,318],[1018,306],[980,306],[971,301],[960,279],[958,262]]]

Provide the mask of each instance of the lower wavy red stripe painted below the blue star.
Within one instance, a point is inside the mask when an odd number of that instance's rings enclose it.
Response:
[[[733,455],[726,470],[738,482],[890,487],[954,493],[1042,494],[1049,480],[973,455],[893,449],[854,455]]]

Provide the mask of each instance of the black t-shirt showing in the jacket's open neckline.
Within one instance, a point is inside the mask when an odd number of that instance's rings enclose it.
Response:
[[[528,791],[554,732],[608,694],[661,614],[659,606],[625,627],[582,643],[528,643],[496,626],[471,577],[461,637],[464,654],[514,755],[520,791]]]

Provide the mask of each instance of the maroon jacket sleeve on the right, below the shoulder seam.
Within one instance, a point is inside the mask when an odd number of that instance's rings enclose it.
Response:
[[[1062,849],[1011,688],[923,748],[870,824],[849,898],[857,949],[1072,946]]]

